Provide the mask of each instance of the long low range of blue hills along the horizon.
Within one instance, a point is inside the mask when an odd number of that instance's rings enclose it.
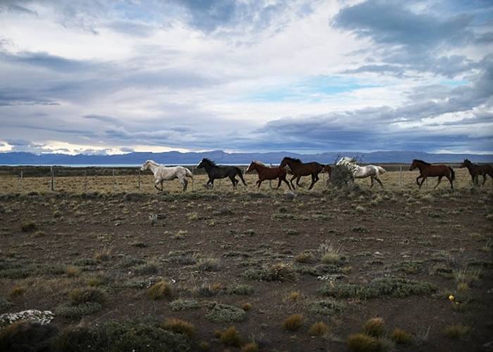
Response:
[[[297,154],[294,152],[235,152],[228,153],[223,150],[210,152],[130,152],[120,155],[66,155],[66,154],[41,154],[30,152],[0,152],[1,165],[25,165],[25,164],[143,164],[146,159],[153,159],[161,164],[197,164],[203,157],[213,159],[218,164],[249,164],[251,160],[260,160],[267,164],[279,164],[285,156],[298,157],[304,162],[317,161],[324,164],[333,164],[338,157],[360,157],[363,163],[411,163],[412,159],[423,159],[427,162],[462,162],[470,159],[473,162],[493,162],[493,155],[474,154],[432,154],[428,152],[323,152],[319,154]]]

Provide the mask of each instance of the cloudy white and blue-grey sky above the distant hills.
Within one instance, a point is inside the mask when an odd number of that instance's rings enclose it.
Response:
[[[0,0],[0,151],[493,152],[493,2]]]

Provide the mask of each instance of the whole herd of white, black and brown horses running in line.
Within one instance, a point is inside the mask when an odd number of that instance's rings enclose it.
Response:
[[[382,167],[378,167],[375,165],[366,165],[361,167],[357,164],[356,159],[352,157],[342,157],[336,163],[336,167],[345,167],[347,168],[354,180],[354,178],[366,178],[370,177],[371,185],[373,187],[375,181],[377,181],[380,186],[383,188],[382,181],[380,181],[381,174],[385,173],[385,169]],[[489,164],[473,164],[468,159],[465,159],[460,166],[461,168],[466,167],[469,171],[469,174],[472,178],[472,181],[475,185],[479,185],[478,178],[482,176],[483,181],[482,185],[485,185],[487,175],[489,175],[493,179],[493,167]],[[246,181],[243,178],[243,172],[239,167],[235,166],[222,166],[217,165],[213,160],[204,157],[201,159],[199,164],[196,166],[197,169],[205,169],[208,175],[208,181],[206,183],[206,188],[213,189],[214,180],[218,178],[230,178],[232,187],[236,190],[239,181],[237,180],[237,176],[246,185]],[[192,178],[192,171],[187,169],[186,167],[165,167],[160,165],[153,160],[147,160],[142,167],[141,171],[151,170],[154,174],[154,187],[157,190],[163,191],[163,181],[178,179],[183,186],[183,192],[187,190],[188,181],[187,178]],[[454,180],[455,180],[455,172],[454,169],[448,167],[447,165],[433,165],[428,162],[424,162],[420,159],[413,159],[411,167],[409,170],[418,169],[420,171],[420,175],[416,178],[416,183],[419,188],[423,185],[425,180],[428,177],[438,177],[437,185],[440,184],[442,178],[447,178],[450,182],[450,187],[454,189]],[[289,190],[295,190],[297,187],[302,187],[299,184],[301,177],[303,176],[311,176],[311,184],[308,187],[308,190],[313,188],[313,185],[320,178],[318,175],[321,173],[327,173],[329,175],[329,179],[332,175],[332,167],[327,164],[320,164],[318,162],[301,162],[300,159],[294,157],[285,157],[282,159],[278,167],[268,167],[265,164],[252,161],[249,167],[246,169],[246,173],[256,171],[258,175],[258,181],[256,181],[256,188],[260,188],[261,183],[263,181],[273,181],[277,180],[277,188],[280,188],[282,182],[286,183]],[[292,178],[287,181],[287,175],[291,175]],[[296,179],[296,186],[293,181]],[[161,188],[158,188],[158,185],[161,184]]]

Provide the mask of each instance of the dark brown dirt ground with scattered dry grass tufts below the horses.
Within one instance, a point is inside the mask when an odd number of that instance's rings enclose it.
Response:
[[[53,311],[61,330],[180,318],[210,351],[239,351],[214,333],[232,325],[261,351],[347,351],[348,337],[381,317],[382,351],[481,350],[493,340],[491,180],[470,188],[461,171],[463,183],[451,192],[446,182],[417,190],[416,176],[406,173],[404,189],[395,175],[382,178],[385,190],[364,181],[344,192],[320,183],[294,199],[267,186],[232,193],[225,181],[207,191],[200,178],[185,195],[147,190],[147,178],[142,193],[116,193],[118,185],[113,193],[112,182],[105,193],[4,189],[0,313]],[[60,182],[58,190],[68,191]],[[152,299],[156,282],[170,294]],[[84,287],[103,292],[101,306],[63,313],[70,292]],[[190,306],[174,310],[183,302]],[[217,322],[215,304],[246,315]],[[303,315],[294,331],[282,325],[292,314]],[[327,330],[311,336],[320,321]],[[396,327],[411,344],[392,342]]]

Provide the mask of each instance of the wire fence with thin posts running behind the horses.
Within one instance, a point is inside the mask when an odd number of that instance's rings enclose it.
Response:
[[[270,164],[273,166],[273,164]],[[456,171],[455,187],[470,187],[472,185],[467,169],[458,169],[458,165],[453,165]],[[380,176],[385,188],[402,189],[416,187],[416,177],[418,171],[408,171],[408,164],[387,164],[382,165],[387,173]],[[196,169],[195,166],[187,166],[194,174],[194,181],[189,182],[188,190],[205,190],[204,184],[208,180],[204,169]],[[246,171],[246,166],[239,166],[242,171]],[[240,183],[238,189],[254,190],[257,179],[256,172],[244,175],[248,187]],[[291,176],[288,175],[288,180]],[[305,189],[309,185],[309,177],[302,178]],[[314,190],[327,188],[328,175],[320,174],[320,181],[316,183]],[[358,183],[369,185],[369,178],[359,179]],[[432,188],[437,182],[437,178],[430,178],[430,183],[425,182],[423,188]],[[330,184],[329,184],[330,185]],[[491,187],[492,181],[487,185]],[[261,190],[273,189],[277,186],[277,180],[263,183]],[[379,188],[379,185],[375,185]],[[443,179],[440,188],[449,188],[447,179]],[[285,188],[285,185],[282,186]],[[214,190],[232,189],[230,180],[216,179]],[[164,190],[170,192],[180,192],[182,185],[178,181],[165,181]],[[150,171],[140,171],[139,167],[0,167],[0,193],[30,193],[30,192],[111,192],[111,193],[155,193],[154,176]]]

